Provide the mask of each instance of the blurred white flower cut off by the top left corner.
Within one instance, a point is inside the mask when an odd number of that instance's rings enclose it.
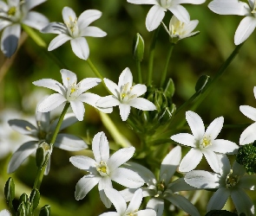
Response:
[[[0,31],[3,29],[1,50],[5,56],[10,58],[16,51],[21,34],[21,23],[38,30],[43,29],[49,23],[47,17],[35,11],[30,11],[36,5],[45,1],[7,0],[7,3],[0,1]]]

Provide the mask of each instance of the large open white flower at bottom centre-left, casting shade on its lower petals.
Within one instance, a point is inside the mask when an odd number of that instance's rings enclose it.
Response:
[[[95,160],[88,156],[72,156],[69,159],[76,168],[89,172],[89,175],[84,175],[75,186],[76,200],[82,200],[96,184],[99,184],[101,200],[106,207],[110,207],[111,202],[104,189],[112,187],[111,181],[130,188],[141,187],[144,184],[140,175],[128,168],[120,168],[121,164],[134,155],[135,147],[119,149],[109,157],[107,137],[103,132],[99,132],[93,139],[92,150]]]

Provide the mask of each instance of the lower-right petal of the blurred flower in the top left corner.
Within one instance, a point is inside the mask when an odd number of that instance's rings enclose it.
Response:
[[[26,18],[23,20],[23,23],[34,29],[41,30],[47,26],[49,20],[46,16],[43,16],[40,13],[30,11]]]

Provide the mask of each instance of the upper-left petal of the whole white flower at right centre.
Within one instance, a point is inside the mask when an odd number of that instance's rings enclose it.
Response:
[[[194,111],[186,111],[187,124],[189,125],[194,138],[200,140],[205,133],[205,126],[203,120]]]

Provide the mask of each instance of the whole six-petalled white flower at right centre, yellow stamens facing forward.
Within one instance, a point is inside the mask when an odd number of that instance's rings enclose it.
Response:
[[[198,114],[194,111],[186,112],[187,123],[193,135],[180,133],[171,137],[177,143],[192,147],[181,161],[179,170],[189,172],[196,168],[202,156],[207,158],[207,162],[214,172],[219,172],[219,159],[215,152],[223,154],[235,154],[239,148],[236,143],[228,140],[216,139],[222,129],[224,118],[215,118],[205,131],[205,126]]]

